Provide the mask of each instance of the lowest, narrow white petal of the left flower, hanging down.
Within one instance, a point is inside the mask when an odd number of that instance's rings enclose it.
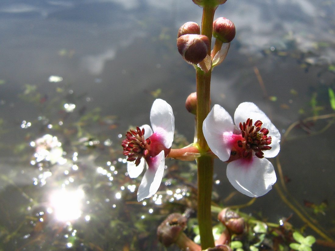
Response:
[[[150,167],[144,173],[143,179],[137,191],[138,201],[149,198],[157,192],[160,183],[162,182],[164,167],[165,156],[164,151],[161,151],[155,157],[154,165],[150,165]]]

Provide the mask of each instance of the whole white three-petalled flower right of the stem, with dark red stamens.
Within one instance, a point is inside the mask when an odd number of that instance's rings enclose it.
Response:
[[[266,158],[279,153],[280,133],[251,102],[237,107],[234,120],[237,127],[224,108],[214,105],[203,123],[205,139],[212,152],[228,162],[229,182],[250,197],[262,196],[277,180],[273,165]]]

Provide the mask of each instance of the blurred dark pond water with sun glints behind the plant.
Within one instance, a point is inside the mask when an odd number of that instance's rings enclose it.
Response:
[[[252,101],[269,115],[283,137],[277,183],[282,172],[288,198],[333,239],[334,11],[334,0],[228,0],[215,18],[237,35],[211,86],[230,114]],[[191,0],[0,0],[0,250],[164,250],[156,227],[195,208],[195,163],[168,160],[157,194],[137,202],[141,176],[126,175],[120,143],[157,97],[173,107],[175,147],[193,141],[195,74],[176,35],[201,14]],[[46,134],[54,151],[39,147]],[[249,201],[222,162],[214,181],[215,203]],[[241,211],[306,227],[276,189]]]

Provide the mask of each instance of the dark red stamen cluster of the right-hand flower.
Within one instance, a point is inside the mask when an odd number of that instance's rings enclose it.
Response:
[[[248,118],[246,122],[240,123],[240,130],[243,140],[238,140],[237,145],[243,148],[242,156],[248,158],[252,151],[258,158],[264,158],[262,151],[270,150],[271,136],[267,136],[269,130],[262,128],[262,121],[257,120],[252,125],[252,119]]]

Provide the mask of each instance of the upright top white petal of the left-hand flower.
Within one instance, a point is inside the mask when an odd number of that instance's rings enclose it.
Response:
[[[171,105],[162,99],[156,99],[151,107],[150,121],[152,130],[161,134],[162,143],[166,148],[170,148],[175,133],[175,116]]]

